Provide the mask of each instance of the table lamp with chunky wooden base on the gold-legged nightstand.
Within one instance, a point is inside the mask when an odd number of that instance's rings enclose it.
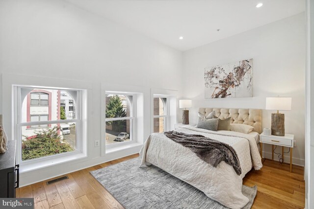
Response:
[[[266,110],[277,110],[271,114],[271,135],[285,136],[285,114],[280,110],[291,110],[291,97],[266,97]]]

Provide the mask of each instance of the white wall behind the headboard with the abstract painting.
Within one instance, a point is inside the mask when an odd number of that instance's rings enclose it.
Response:
[[[245,24],[245,23],[244,23]],[[293,163],[304,164],[305,14],[301,13],[183,53],[183,93],[191,98],[190,121],[199,107],[265,108],[265,97],[291,96],[284,111],[286,133],[294,134]],[[223,28],[221,28],[223,30]],[[204,68],[253,58],[253,97],[205,99]],[[272,111],[263,110],[262,126],[270,128]],[[278,152],[280,149],[278,149]],[[287,150],[288,151],[288,150]],[[266,145],[270,156],[271,146]],[[285,161],[289,160],[288,155]]]

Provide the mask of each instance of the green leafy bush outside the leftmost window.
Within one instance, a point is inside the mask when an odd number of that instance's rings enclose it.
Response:
[[[58,135],[58,127],[34,131],[35,137],[22,141],[22,160],[30,160],[63,152],[71,152],[74,149]]]

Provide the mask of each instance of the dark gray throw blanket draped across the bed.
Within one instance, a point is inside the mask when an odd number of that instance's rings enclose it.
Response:
[[[189,148],[201,160],[211,166],[217,167],[221,161],[224,161],[234,167],[237,175],[242,172],[235,149],[226,143],[202,135],[184,134],[176,131],[164,132],[164,135]]]

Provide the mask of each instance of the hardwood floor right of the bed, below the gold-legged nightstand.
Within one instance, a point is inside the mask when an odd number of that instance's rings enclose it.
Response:
[[[257,185],[252,209],[304,209],[304,168],[265,160],[259,171],[251,170],[243,179],[247,186]]]

